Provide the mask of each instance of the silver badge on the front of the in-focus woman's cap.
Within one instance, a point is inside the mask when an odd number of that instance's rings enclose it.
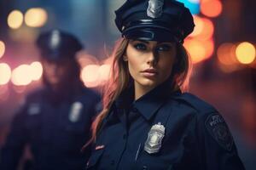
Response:
[[[147,15],[151,18],[158,18],[163,13],[163,6],[165,0],[149,0]]]

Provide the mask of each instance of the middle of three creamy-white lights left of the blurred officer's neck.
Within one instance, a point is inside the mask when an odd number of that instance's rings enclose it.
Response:
[[[32,82],[31,66],[20,65],[12,73],[11,81],[16,86],[26,86]]]

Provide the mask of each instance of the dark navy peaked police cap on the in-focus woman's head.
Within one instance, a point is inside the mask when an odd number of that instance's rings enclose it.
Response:
[[[127,0],[115,14],[128,39],[183,42],[195,27],[189,9],[174,0]]]

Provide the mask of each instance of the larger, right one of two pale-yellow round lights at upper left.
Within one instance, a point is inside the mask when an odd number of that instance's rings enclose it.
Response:
[[[47,19],[48,15],[44,8],[30,8],[25,14],[26,26],[41,27],[44,26]]]

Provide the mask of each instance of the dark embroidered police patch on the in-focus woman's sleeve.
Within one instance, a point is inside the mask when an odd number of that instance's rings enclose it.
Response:
[[[226,122],[224,122],[224,118],[222,116],[218,113],[208,116],[205,125],[208,132],[219,145],[221,145],[225,150],[230,151],[232,149],[234,141],[229,127]]]

